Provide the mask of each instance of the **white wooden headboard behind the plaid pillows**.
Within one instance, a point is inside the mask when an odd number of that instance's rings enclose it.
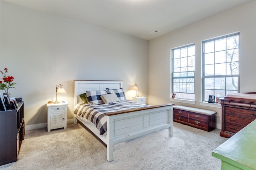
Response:
[[[74,106],[81,102],[80,94],[83,94],[87,91],[93,90],[106,90],[118,89],[123,87],[124,81],[110,81],[110,80],[74,80],[75,82],[75,101]]]

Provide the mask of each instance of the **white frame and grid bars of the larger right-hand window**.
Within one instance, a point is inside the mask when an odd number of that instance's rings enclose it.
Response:
[[[218,40],[221,40],[221,39],[227,39],[229,37],[234,37],[234,36],[238,36],[238,48],[235,48],[235,49],[238,49],[238,74],[227,74],[227,72],[225,73],[225,75],[205,75],[205,43],[209,43],[209,42],[215,42],[215,41],[218,41]],[[227,43],[226,43],[227,45]],[[215,47],[215,46],[214,46]],[[227,49],[227,46],[225,47],[225,52],[228,51],[230,49]],[[218,52],[218,51],[217,51]],[[214,48],[214,53],[216,53],[216,49]],[[226,96],[227,94],[230,94],[230,93],[227,93],[227,91],[237,91],[239,93],[239,90],[240,90],[240,33],[237,32],[237,33],[232,33],[232,34],[228,34],[228,35],[224,35],[224,36],[220,36],[220,37],[216,37],[216,38],[212,38],[212,39],[208,39],[208,40],[205,40],[205,41],[202,41],[202,101],[204,102],[208,102],[208,100],[206,100],[206,98],[208,98],[206,96],[206,90],[207,88],[206,87],[206,78],[225,78],[225,89],[215,89],[215,81],[214,80],[214,88],[213,89],[208,89],[208,90],[213,90],[214,91],[214,94],[212,95],[215,95],[215,90],[225,90],[225,95]],[[227,58],[227,55],[226,55],[226,58]],[[225,61],[225,64],[227,63],[230,63],[228,61]],[[214,67],[215,67],[215,61],[214,61]],[[217,63],[218,64],[218,63]],[[235,77],[237,78],[237,90],[228,90],[227,89],[227,86],[226,86],[226,78],[232,78],[232,77]],[[222,96],[222,97],[224,97]]]

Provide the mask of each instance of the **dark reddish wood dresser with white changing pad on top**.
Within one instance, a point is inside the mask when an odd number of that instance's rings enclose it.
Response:
[[[220,136],[232,137],[256,119],[256,94],[230,94],[221,99]]]

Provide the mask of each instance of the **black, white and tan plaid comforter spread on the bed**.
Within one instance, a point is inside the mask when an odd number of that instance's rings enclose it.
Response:
[[[135,109],[140,107],[146,107],[149,105],[140,104],[131,100],[123,100],[120,102],[114,102],[111,104],[100,105],[88,105],[84,102],[79,102],[73,109],[74,114],[84,119],[89,120],[97,129],[100,130],[100,135],[106,135],[107,131],[107,117],[104,113],[110,113],[114,111],[122,111],[127,109]]]

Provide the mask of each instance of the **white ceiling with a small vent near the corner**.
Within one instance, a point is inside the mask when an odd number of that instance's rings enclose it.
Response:
[[[5,1],[150,40],[251,0]]]

